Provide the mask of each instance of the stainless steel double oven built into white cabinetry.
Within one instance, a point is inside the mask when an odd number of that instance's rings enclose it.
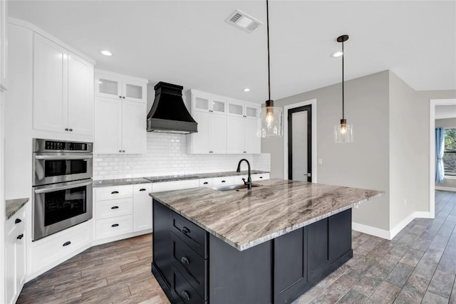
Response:
[[[33,139],[32,239],[92,218],[93,144]]]

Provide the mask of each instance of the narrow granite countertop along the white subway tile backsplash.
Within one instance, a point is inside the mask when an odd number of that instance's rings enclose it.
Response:
[[[247,175],[246,171],[236,172],[213,172],[213,173],[197,173],[197,174],[177,174],[177,175],[162,175],[157,177],[138,177],[129,179],[103,179],[93,181],[93,187],[109,187],[120,186],[124,184],[143,184],[147,182],[173,182],[183,179],[207,179],[212,177],[230,177],[237,175]],[[269,173],[266,171],[252,170],[252,174]]]

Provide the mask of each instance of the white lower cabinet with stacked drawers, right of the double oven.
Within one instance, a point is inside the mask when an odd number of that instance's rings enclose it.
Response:
[[[95,239],[152,229],[152,184],[95,188]]]

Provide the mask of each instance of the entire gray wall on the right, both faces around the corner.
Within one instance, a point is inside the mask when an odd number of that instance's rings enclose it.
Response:
[[[389,70],[349,80],[345,88],[353,144],[333,142],[333,125],[341,119],[340,83],[275,105],[316,98],[317,158],[323,159],[317,182],[384,191],[354,209],[353,221],[390,231],[414,211],[430,211],[430,100],[455,98],[456,90],[415,91]],[[271,177],[283,178],[284,138],[261,140],[261,151],[271,154]]]

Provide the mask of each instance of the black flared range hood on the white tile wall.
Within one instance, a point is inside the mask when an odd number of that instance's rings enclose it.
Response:
[[[198,132],[197,122],[185,108],[180,85],[157,83],[155,100],[147,114],[147,132],[189,134]]]

